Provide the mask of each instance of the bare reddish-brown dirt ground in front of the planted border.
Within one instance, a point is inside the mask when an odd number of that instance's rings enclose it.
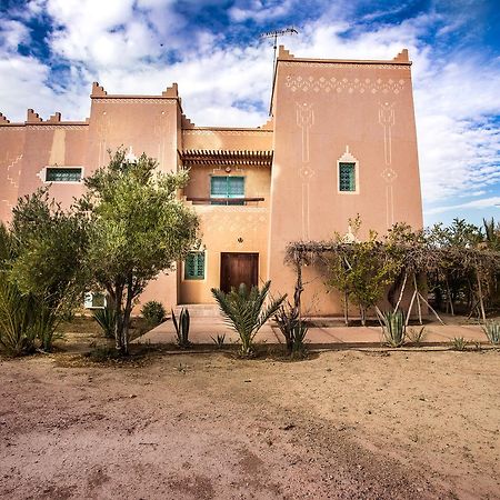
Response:
[[[0,497],[500,498],[500,352],[0,361]]]

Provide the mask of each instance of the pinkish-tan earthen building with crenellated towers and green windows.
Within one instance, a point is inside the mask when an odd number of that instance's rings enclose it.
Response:
[[[82,177],[106,164],[108,149],[156,157],[164,171],[189,167],[186,203],[201,220],[202,248],[160,276],[142,301],[210,303],[210,288],[272,280],[291,292],[283,264],[289,241],[344,233],[360,214],[384,233],[394,222],[422,226],[411,62],[299,59],[280,47],[271,119],[257,129],[196,127],[177,84],[161,96],[111,96],[94,83],[90,118],[24,123],[0,114],[0,218],[18,197],[50,183],[69,203]],[[308,270],[304,292],[316,314],[341,312],[322,279]]]

